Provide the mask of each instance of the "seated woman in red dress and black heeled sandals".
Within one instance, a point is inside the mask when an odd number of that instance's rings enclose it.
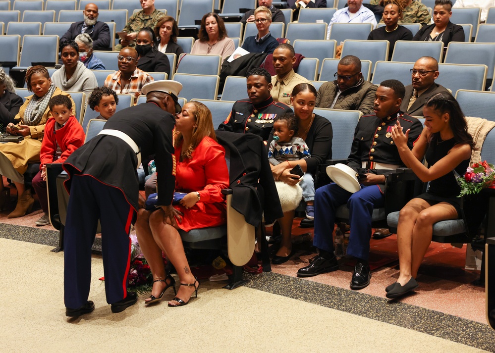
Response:
[[[165,273],[162,251],[175,267],[180,280],[176,297],[168,306],[189,303],[198,293],[199,282],[191,274],[178,229],[215,227],[226,222],[226,203],[221,190],[228,187],[225,151],[217,143],[212,114],[206,105],[190,102],[184,105],[175,123],[175,192],[186,193],[174,207],[177,228],[173,227],[161,208],[141,209],[136,233],[141,250],[153,274],[153,290],[145,304],[162,299],[175,280]]]

